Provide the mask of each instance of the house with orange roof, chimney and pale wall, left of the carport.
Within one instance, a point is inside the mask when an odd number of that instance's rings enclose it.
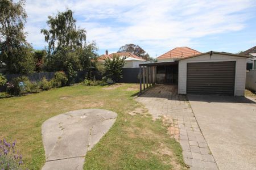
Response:
[[[113,56],[125,57],[125,66],[123,66],[123,68],[138,68],[140,63],[146,61],[145,59],[129,52],[108,54],[108,50],[106,50],[106,54],[102,54],[100,57],[98,57],[97,61],[105,63],[105,59],[111,59]]]

